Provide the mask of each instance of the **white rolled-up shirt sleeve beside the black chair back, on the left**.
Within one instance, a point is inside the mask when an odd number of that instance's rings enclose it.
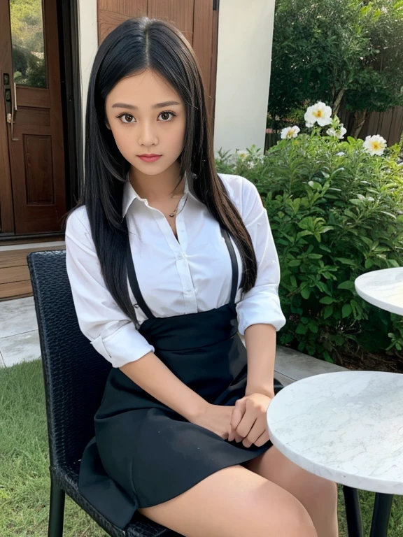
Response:
[[[153,345],[140,334],[106,288],[85,207],[69,215],[65,241],[66,269],[78,324],[93,347],[113,367],[154,352]]]

